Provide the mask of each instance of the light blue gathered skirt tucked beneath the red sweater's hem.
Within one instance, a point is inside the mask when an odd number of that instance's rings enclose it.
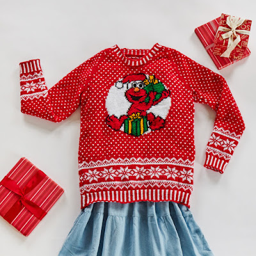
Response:
[[[81,210],[59,256],[209,256],[185,205],[96,202]]]

